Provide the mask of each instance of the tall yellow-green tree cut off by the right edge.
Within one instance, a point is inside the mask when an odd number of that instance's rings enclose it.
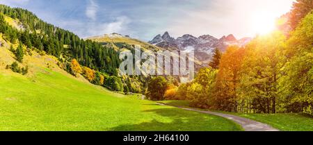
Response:
[[[289,61],[280,79],[287,112],[313,114],[313,12],[299,24],[287,42]]]

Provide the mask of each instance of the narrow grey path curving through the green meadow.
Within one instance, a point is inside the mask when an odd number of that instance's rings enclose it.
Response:
[[[159,105],[167,105],[165,103],[157,103]],[[172,106],[172,105],[170,105]],[[219,117],[224,117],[226,119],[230,119],[236,123],[239,123],[242,128],[246,131],[279,131],[278,129],[275,129],[271,126],[268,126],[266,123],[260,123],[257,121],[253,121],[251,119],[246,119],[244,117],[238,117],[232,114],[224,114],[224,113],[219,113],[219,112],[211,112],[211,111],[203,111],[203,110],[197,110],[193,108],[183,108],[179,106],[172,106],[175,108],[181,108],[184,110],[190,110],[190,111],[195,111],[195,112],[201,112],[201,113],[206,113],[206,114],[214,114]]]

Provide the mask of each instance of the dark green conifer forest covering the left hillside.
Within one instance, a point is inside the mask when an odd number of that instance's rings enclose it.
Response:
[[[6,40],[22,42],[29,49],[38,49],[56,56],[61,62],[69,63],[73,58],[86,67],[109,75],[118,75],[120,60],[118,52],[97,42],[82,40],[74,33],[47,24],[32,12],[22,8],[0,5],[0,33]],[[18,31],[5,21],[5,16],[19,19],[22,23]]]

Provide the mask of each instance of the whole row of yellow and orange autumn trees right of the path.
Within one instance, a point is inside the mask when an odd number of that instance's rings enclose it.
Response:
[[[313,12],[286,37],[258,36],[230,46],[214,66],[203,68],[177,95],[197,108],[228,112],[313,114]],[[215,58],[219,57],[216,53]],[[218,61],[216,61],[218,60]],[[214,69],[218,68],[218,69]]]

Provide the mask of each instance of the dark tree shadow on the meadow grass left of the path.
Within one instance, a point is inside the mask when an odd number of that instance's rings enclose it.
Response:
[[[241,130],[241,127],[221,117],[209,114],[200,114],[177,108],[161,108],[146,110],[161,117],[153,117],[151,121],[137,124],[123,124],[111,128],[118,131],[216,131],[216,130]]]

